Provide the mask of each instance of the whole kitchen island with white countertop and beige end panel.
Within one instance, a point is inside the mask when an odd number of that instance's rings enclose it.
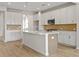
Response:
[[[23,31],[23,45],[45,55],[53,55],[57,49],[58,32]]]

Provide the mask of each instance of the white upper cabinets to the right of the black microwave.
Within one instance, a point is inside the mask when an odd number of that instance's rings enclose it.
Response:
[[[76,23],[75,5],[56,10],[55,18],[56,24]]]

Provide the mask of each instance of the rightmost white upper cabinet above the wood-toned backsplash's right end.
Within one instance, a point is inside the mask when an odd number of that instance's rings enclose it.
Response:
[[[66,8],[66,22],[67,23],[76,23],[75,19],[75,5]]]

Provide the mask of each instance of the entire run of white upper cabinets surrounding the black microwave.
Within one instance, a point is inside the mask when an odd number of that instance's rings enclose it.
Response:
[[[75,11],[76,11],[75,5],[48,11],[41,14],[41,20],[43,21],[43,24],[48,24],[47,21],[52,18],[55,18],[56,24],[76,23]],[[34,18],[38,19],[38,15],[35,16]]]

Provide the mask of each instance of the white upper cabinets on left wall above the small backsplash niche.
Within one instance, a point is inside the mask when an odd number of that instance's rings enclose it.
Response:
[[[7,12],[6,23],[7,24],[22,24],[22,14],[15,12]]]

